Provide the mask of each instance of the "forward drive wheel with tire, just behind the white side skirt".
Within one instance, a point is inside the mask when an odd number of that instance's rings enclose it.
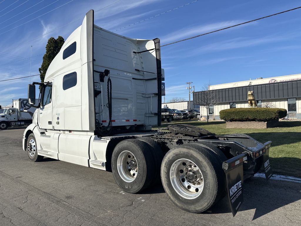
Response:
[[[128,193],[147,188],[154,179],[154,159],[149,145],[138,139],[119,142],[112,154],[112,172],[118,186]]]

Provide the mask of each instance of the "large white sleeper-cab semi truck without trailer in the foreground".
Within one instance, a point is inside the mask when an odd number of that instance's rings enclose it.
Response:
[[[206,211],[228,193],[234,215],[244,179],[263,162],[267,178],[272,175],[271,142],[189,125],[153,131],[161,124],[160,40],[104,30],[94,24],[93,10],[51,62],[45,81],[29,85],[28,100],[38,105],[23,135],[30,160],[49,157],[112,171],[129,193],[162,181],[186,211]]]

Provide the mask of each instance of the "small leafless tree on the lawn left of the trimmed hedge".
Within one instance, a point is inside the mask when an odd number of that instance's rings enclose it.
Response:
[[[203,106],[204,108],[206,108],[206,112],[207,112],[207,123],[209,120],[209,108],[213,107],[214,105],[216,105],[218,103],[218,99],[216,97],[216,92],[213,90],[209,90],[209,86],[210,86],[210,82],[209,83],[205,83],[202,87],[202,92],[200,93],[198,102],[201,106]]]

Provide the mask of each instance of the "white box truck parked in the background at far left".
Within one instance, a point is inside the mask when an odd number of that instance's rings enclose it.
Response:
[[[23,109],[27,109],[24,112]],[[6,130],[12,126],[24,126],[32,123],[32,115],[36,108],[28,104],[28,99],[15,99],[11,108],[4,108],[0,114],[0,130]]]

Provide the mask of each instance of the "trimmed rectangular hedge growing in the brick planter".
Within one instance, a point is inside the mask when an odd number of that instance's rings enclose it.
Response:
[[[286,116],[287,110],[284,108],[230,108],[219,112],[219,117],[225,121],[266,122]]]

